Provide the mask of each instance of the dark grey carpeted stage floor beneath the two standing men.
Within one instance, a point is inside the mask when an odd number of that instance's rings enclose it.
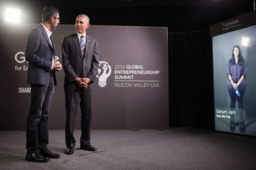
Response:
[[[193,128],[92,131],[97,152],[63,154],[64,131],[50,131],[48,148],[59,159],[25,160],[25,132],[0,131],[0,169],[256,169],[256,138]]]

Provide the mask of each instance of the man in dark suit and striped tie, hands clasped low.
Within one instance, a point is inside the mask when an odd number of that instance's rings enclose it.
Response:
[[[74,123],[77,106],[81,108],[80,148],[96,151],[91,146],[91,95],[98,71],[98,41],[86,34],[90,26],[88,16],[80,14],[76,18],[76,33],[63,38],[61,44],[63,69],[65,71],[64,90],[66,97],[66,154],[74,152]]]

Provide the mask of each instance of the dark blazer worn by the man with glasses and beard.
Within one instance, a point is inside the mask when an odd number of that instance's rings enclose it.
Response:
[[[55,56],[53,41],[51,46],[44,27],[39,24],[38,27],[34,27],[29,31],[27,37],[25,57],[29,61],[29,69],[27,71],[28,84],[49,84],[53,56]],[[56,85],[55,72],[52,71],[52,74]]]

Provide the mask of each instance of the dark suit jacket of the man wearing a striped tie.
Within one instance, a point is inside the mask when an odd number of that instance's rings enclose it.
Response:
[[[65,71],[65,90],[76,90],[76,78],[89,78],[91,82],[86,91],[93,90],[99,66],[98,41],[86,35],[85,54],[82,56],[77,33],[63,37],[61,44],[63,70]]]

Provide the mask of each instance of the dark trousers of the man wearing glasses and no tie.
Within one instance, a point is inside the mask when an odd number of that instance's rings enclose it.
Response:
[[[27,152],[39,152],[48,145],[48,115],[54,92],[54,80],[48,85],[31,84],[31,105],[27,116]]]

